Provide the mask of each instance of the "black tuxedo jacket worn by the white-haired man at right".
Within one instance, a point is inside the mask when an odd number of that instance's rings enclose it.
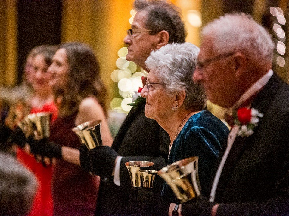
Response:
[[[264,116],[253,135],[232,145],[216,190],[217,215],[289,215],[289,85],[273,74],[252,107]]]

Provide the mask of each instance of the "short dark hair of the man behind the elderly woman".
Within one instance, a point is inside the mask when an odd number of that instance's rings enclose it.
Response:
[[[169,33],[169,44],[185,42],[187,31],[176,5],[166,0],[135,0],[133,8],[148,13],[144,23],[147,29],[153,30],[150,34],[165,30]]]

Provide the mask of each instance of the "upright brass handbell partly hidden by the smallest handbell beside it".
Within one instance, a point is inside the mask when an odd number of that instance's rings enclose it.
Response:
[[[132,183],[132,187],[141,187],[141,167],[151,167],[154,165],[153,162],[149,161],[129,161],[125,163],[127,169],[129,170],[130,181]]]

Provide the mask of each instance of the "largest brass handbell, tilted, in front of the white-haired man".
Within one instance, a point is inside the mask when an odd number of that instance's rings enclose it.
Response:
[[[158,175],[172,188],[181,203],[201,195],[198,157],[185,158],[163,167]]]

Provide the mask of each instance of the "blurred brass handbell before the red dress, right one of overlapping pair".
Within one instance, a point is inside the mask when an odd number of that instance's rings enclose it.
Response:
[[[50,122],[52,113],[40,112],[29,114],[31,135],[34,140],[41,140],[50,136]]]

